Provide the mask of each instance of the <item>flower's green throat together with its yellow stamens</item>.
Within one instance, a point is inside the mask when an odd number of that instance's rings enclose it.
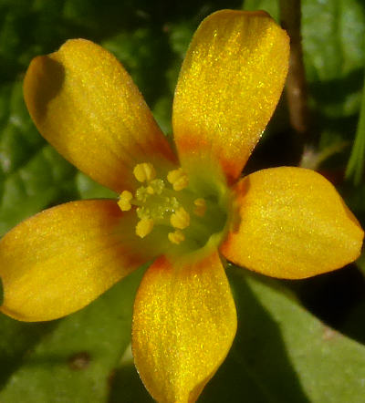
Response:
[[[134,194],[122,191],[118,204],[123,212],[134,206],[139,219],[135,227],[138,237],[149,236],[162,244],[168,240],[168,249],[192,252],[202,248],[215,233],[223,232],[226,206],[214,186],[190,186],[182,168],[157,178],[149,162],[136,165],[133,174],[141,186]]]

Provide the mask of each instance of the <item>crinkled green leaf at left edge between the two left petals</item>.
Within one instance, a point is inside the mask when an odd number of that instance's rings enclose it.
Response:
[[[76,170],[40,137],[20,82],[0,88],[0,236],[52,203],[78,198]],[[0,105],[0,106],[1,106]]]

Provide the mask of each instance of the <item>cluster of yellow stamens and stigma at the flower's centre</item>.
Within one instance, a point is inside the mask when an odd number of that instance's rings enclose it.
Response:
[[[158,178],[153,165],[142,162],[134,167],[133,175],[141,186],[134,194],[122,191],[118,204],[122,212],[135,210],[139,219],[135,234],[144,238],[162,226],[170,243],[183,243],[192,215],[203,217],[206,211],[205,200],[187,189],[189,178],[186,173],[179,168]]]

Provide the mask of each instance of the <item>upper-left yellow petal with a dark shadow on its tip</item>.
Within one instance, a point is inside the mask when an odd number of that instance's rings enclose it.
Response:
[[[24,96],[42,136],[113,191],[133,188],[138,162],[175,158],[130,75],[92,42],[69,40],[33,59]]]

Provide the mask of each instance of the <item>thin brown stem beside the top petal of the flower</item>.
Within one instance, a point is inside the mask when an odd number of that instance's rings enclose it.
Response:
[[[290,36],[287,103],[290,123],[298,134],[308,133],[308,92],[300,34],[300,0],[280,0],[281,24]]]

